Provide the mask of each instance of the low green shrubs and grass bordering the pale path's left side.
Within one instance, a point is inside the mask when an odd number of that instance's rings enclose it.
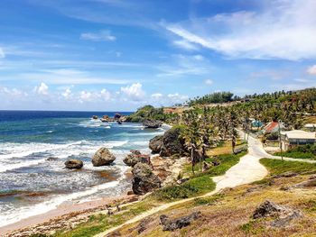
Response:
[[[174,201],[192,196],[200,196],[214,190],[216,184],[209,176],[191,178],[181,186],[163,187],[153,193],[158,201]]]

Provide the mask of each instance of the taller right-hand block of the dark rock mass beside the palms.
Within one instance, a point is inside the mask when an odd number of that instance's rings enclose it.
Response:
[[[186,152],[184,141],[180,137],[181,129],[181,127],[173,127],[167,132],[164,132],[160,156],[169,157],[175,154],[183,154]]]

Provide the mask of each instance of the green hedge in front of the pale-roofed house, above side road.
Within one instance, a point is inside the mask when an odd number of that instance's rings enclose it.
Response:
[[[295,159],[312,159],[316,160],[316,145],[303,145],[294,147],[291,150],[287,150],[285,152],[276,152],[274,153],[276,156],[283,155],[284,157],[291,157]]]

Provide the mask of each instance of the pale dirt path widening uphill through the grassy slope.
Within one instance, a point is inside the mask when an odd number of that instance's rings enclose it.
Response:
[[[240,159],[240,161],[237,163],[237,165],[233,166],[231,169],[228,169],[225,175],[213,178],[214,182],[217,184],[216,189],[203,196],[212,196],[226,187],[237,187],[240,185],[249,184],[256,180],[265,178],[268,172],[265,169],[265,167],[261,165],[259,162],[259,160],[264,157],[265,157],[265,150],[262,147],[261,142],[257,141],[254,138],[249,137],[248,154],[246,154],[246,156],[243,156]],[[203,196],[200,196],[200,197],[203,197]],[[183,199],[180,201],[172,202],[169,204],[157,206],[149,211],[144,212],[143,214],[139,214],[135,216],[134,218],[130,219],[129,221],[123,224],[120,224],[116,227],[108,229],[106,232],[101,232],[95,235],[95,237],[106,236],[108,233],[114,232],[122,228],[126,224],[138,222],[144,219],[145,217],[148,217],[152,214],[156,214],[173,205],[179,205],[179,204],[191,201],[194,198],[196,197],[191,197],[191,198]]]

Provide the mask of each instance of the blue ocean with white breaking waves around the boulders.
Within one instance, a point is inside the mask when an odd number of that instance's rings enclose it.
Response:
[[[148,141],[163,129],[140,123],[91,119],[111,112],[0,111],[0,226],[47,212],[64,202],[117,196],[131,187],[123,159],[129,150],[149,153]],[[121,113],[129,114],[129,113]],[[116,156],[111,166],[93,167],[100,147]],[[83,169],[64,169],[68,159]]]

